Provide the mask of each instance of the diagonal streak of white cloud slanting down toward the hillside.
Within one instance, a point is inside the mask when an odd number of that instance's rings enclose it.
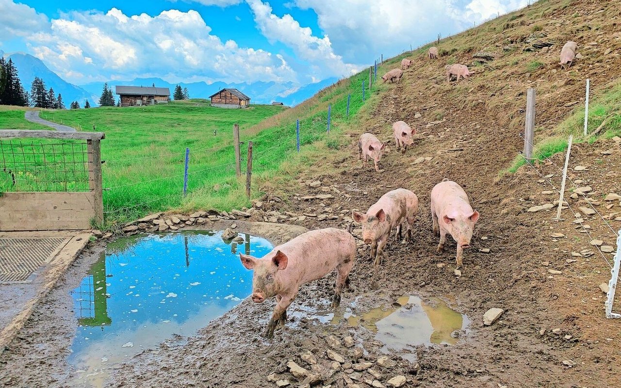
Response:
[[[261,0],[246,0],[252,10],[257,27],[269,40],[278,40],[296,53],[297,59],[311,65],[311,78],[325,79],[331,76],[349,76],[360,68],[345,63],[342,56],[334,53],[330,38],[312,35],[309,27],[301,27],[289,14],[278,17],[272,13],[270,4]]]

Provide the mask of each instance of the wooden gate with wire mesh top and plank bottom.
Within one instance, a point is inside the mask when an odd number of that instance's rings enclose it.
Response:
[[[103,132],[0,130],[0,231],[99,225],[105,137]]]

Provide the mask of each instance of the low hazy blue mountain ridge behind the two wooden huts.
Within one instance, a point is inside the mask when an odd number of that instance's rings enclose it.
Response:
[[[190,97],[192,98],[209,98],[212,94],[223,88],[235,88],[242,91],[250,97],[253,104],[271,104],[273,101],[283,102],[286,106],[294,106],[314,96],[320,89],[325,88],[335,82],[337,78],[328,78],[319,83],[301,85],[292,82],[275,83],[258,81],[254,83],[224,83],[217,81],[208,84],[204,81],[193,83],[179,83],[181,88],[188,88]],[[160,88],[170,88],[171,94],[175,91],[177,84],[171,84],[161,78],[135,78],[131,81],[109,81],[109,86],[130,85],[130,86],[158,86]],[[103,84],[93,82],[81,85],[81,88],[91,94],[101,94]],[[112,89],[114,92],[114,88]]]

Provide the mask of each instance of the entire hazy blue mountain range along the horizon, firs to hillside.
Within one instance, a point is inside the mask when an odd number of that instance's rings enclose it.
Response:
[[[103,82],[92,82],[84,85],[76,86],[66,82],[56,73],[50,70],[45,63],[39,58],[27,53],[16,52],[7,54],[0,50],[0,55],[5,58],[11,58],[19,72],[19,79],[22,81],[24,88],[30,91],[30,84],[35,76],[45,81],[47,88],[53,88],[56,94],[60,93],[65,101],[65,106],[69,106],[71,101],[78,101],[80,106],[84,106],[86,99],[89,100],[91,106],[97,106],[99,96],[103,89]],[[206,82],[179,83],[181,88],[188,88],[191,98],[209,98],[212,94],[223,88],[235,88],[242,91],[250,97],[252,104],[271,104],[271,102],[283,102],[286,106],[295,106],[300,102],[314,96],[320,89],[323,89],[337,82],[337,78],[328,78],[314,84],[296,84],[292,82],[276,83],[258,81],[254,83],[224,83],[214,82],[207,84]],[[108,85],[129,85],[129,86],[158,86],[160,88],[170,88],[171,94],[175,91],[176,84],[168,83],[161,78],[135,78],[128,81],[109,81]],[[117,97],[115,95],[115,97]],[[172,96],[171,96],[172,97]]]

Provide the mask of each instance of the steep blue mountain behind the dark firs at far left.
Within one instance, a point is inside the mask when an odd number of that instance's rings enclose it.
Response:
[[[71,101],[78,101],[80,106],[84,106],[84,101],[86,101],[86,99],[89,100],[91,106],[96,106],[97,101],[99,101],[99,94],[101,94],[102,85],[100,85],[99,92],[89,93],[83,88],[70,84],[60,78],[56,73],[48,69],[42,60],[36,58],[35,56],[22,52],[11,54],[2,52],[0,55],[7,58],[7,60],[8,58],[11,58],[13,63],[15,63],[19,74],[19,80],[22,82],[22,85],[26,91],[30,91],[32,80],[35,79],[35,76],[37,76],[43,79],[45,86],[48,89],[51,87],[54,89],[55,94],[60,93],[63,96],[63,101],[65,101],[66,107],[69,107]]]

